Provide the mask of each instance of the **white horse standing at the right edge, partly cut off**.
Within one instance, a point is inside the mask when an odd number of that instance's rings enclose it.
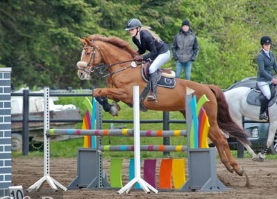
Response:
[[[266,158],[267,151],[274,149],[276,146],[277,135],[277,104],[276,104],[276,86],[272,86],[273,95],[271,101],[269,101],[269,107],[267,108],[267,115],[269,116],[269,133],[267,137],[267,145],[258,153],[255,154],[253,149],[248,144],[244,144],[246,150],[252,155],[252,160],[263,161]],[[250,95],[249,95],[250,93]],[[250,120],[259,122],[267,122],[259,120],[260,115],[260,99],[262,93],[255,91],[255,88],[237,87],[224,92],[226,100],[228,102],[229,112],[233,121],[242,127],[242,116],[248,117]],[[274,143],[275,142],[275,143]],[[274,143],[274,144],[273,144]]]

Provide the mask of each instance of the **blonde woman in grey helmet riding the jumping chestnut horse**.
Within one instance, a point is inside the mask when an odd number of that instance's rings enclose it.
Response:
[[[134,55],[135,61],[146,59],[153,60],[149,68],[151,95],[147,96],[147,101],[158,101],[157,93],[157,73],[156,70],[165,64],[170,57],[169,44],[166,44],[156,33],[149,30],[149,27],[142,27],[142,23],[138,19],[130,19],[127,28],[132,36],[134,44],[137,46],[139,55]],[[142,55],[149,51],[146,55]]]

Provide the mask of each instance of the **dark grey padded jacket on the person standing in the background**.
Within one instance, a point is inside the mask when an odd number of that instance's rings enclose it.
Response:
[[[180,32],[175,35],[172,44],[172,54],[174,60],[183,63],[187,61],[195,61],[199,52],[197,39],[191,29],[184,32],[181,28]]]

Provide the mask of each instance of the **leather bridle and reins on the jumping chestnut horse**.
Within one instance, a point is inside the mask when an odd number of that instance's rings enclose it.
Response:
[[[110,68],[111,66],[115,66],[117,64],[124,64],[126,62],[130,62],[130,61],[133,61],[134,59],[129,59],[127,61],[120,61],[120,62],[117,62],[115,64],[104,64],[104,56],[103,56],[103,53],[101,51],[101,49],[99,48],[99,46],[97,46],[96,42],[94,40],[92,40],[92,43],[96,46],[96,48],[92,47],[92,46],[86,46],[83,48],[83,50],[86,50],[86,49],[92,49],[92,54],[90,55],[90,61],[87,62],[87,66],[78,66],[78,70],[83,70],[83,72],[87,73],[87,74],[90,74],[90,73],[93,73],[94,70],[99,70],[99,74],[103,75],[104,71],[108,70],[108,68]],[[95,66],[95,56],[96,56],[96,50],[99,51],[100,55],[101,55],[101,61],[100,63]],[[90,66],[90,62],[92,62],[92,66]],[[89,67],[89,68],[88,68]],[[124,67],[124,68],[121,68],[113,73],[107,73],[106,75],[103,75],[103,77],[108,77],[110,75],[113,75],[115,73],[118,73],[119,71],[121,70],[125,70],[127,68],[131,68],[132,66],[127,66],[127,67]],[[88,70],[87,70],[88,68]]]

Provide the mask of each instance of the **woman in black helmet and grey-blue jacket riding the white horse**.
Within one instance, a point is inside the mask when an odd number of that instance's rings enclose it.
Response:
[[[264,95],[262,99],[260,99],[260,120],[267,120],[267,114],[265,111],[267,110],[267,104],[269,99],[271,99],[271,91],[269,88],[269,84],[272,82],[277,84],[277,79],[274,77],[273,70],[277,73],[277,65],[276,58],[274,53],[270,51],[271,47],[271,38],[268,36],[263,36],[260,39],[260,45],[262,45],[262,50],[258,54],[258,75],[257,75],[257,85],[260,88],[260,91]]]

